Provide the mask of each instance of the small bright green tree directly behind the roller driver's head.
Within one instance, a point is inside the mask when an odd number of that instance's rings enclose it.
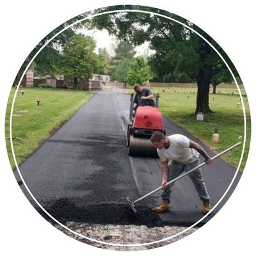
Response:
[[[127,72],[126,81],[128,84],[145,84],[152,78],[151,70],[143,57],[137,57],[132,61],[131,68]]]

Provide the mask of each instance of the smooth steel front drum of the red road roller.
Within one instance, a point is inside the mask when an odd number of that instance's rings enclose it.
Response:
[[[150,138],[134,137],[129,138],[129,156],[157,157],[157,150],[150,141]]]

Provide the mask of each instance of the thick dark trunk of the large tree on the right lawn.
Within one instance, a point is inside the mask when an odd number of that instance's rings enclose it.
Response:
[[[209,108],[209,91],[210,91],[211,74],[206,68],[201,68],[198,72],[196,79],[197,83],[197,97],[196,97],[196,111],[210,113],[212,112]]]

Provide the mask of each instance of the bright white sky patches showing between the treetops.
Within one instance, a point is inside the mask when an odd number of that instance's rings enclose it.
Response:
[[[92,36],[93,39],[97,43],[96,51],[98,52],[99,48],[106,48],[109,52],[110,56],[115,55],[115,49],[118,45],[118,40],[115,36],[109,35],[108,31],[106,29],[100,31],[100,30],[86,30],[81,29],[79,30],[80,33],[83,33],[84,35]],[[145,42],[145,44],[140,45],[138,47],[135,47],[136,54],[135,56],[149,56],[154,51],[148,49],[148,42]]]

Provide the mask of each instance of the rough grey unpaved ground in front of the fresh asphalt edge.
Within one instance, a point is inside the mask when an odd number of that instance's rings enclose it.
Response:
[[[76,234],[74,234],[66,228],[60,227],[60,225],[54,225],[54,227],[82,243],[118,251],[135,251],[157,248],[179,241],[179,239],[188,236],[198,229],[190,228],[185,231],[186,227],[175,226],[150,228],[143,225],[99,225],[67,222],[66,227],[76,232]],[[79,236],[77,234],[79,234]],[[87,237],[87,239],[85,237]],[[92,241],[90,239],[94,239],[96,241]],[[164,239],[164,241],[162,239]]]

